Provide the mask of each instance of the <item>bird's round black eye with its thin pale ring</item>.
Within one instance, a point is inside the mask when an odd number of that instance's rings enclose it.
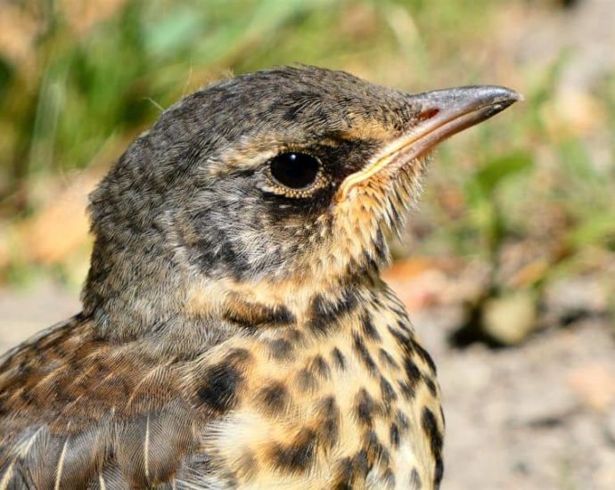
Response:
[[[302,151],[283,151],[268,161],[267,176],[275,191],[306,197],[325,184],[320,159]]]

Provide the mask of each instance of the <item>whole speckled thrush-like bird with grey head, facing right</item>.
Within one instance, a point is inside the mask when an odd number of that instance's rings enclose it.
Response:
[[[381,270],[437,144],[520,99],[301,65],[164,110],[90,195],[81,313],[0,358],[0,490],[439,487]]]

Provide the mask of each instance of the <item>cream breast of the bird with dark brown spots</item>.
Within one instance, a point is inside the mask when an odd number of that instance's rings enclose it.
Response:
[[[403,306],[388,290],[319,301],[197,363],[202,451],[246,486],[435,485],[439,388]]]

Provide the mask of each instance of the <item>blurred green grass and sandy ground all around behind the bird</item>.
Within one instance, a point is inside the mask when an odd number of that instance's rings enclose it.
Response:
[[[615,488],[615,1],[2,0],[0,350],[78,312],[86,195],[272,65],[526,97],[444,143],[387,280],[439,365],[444,489]]]

